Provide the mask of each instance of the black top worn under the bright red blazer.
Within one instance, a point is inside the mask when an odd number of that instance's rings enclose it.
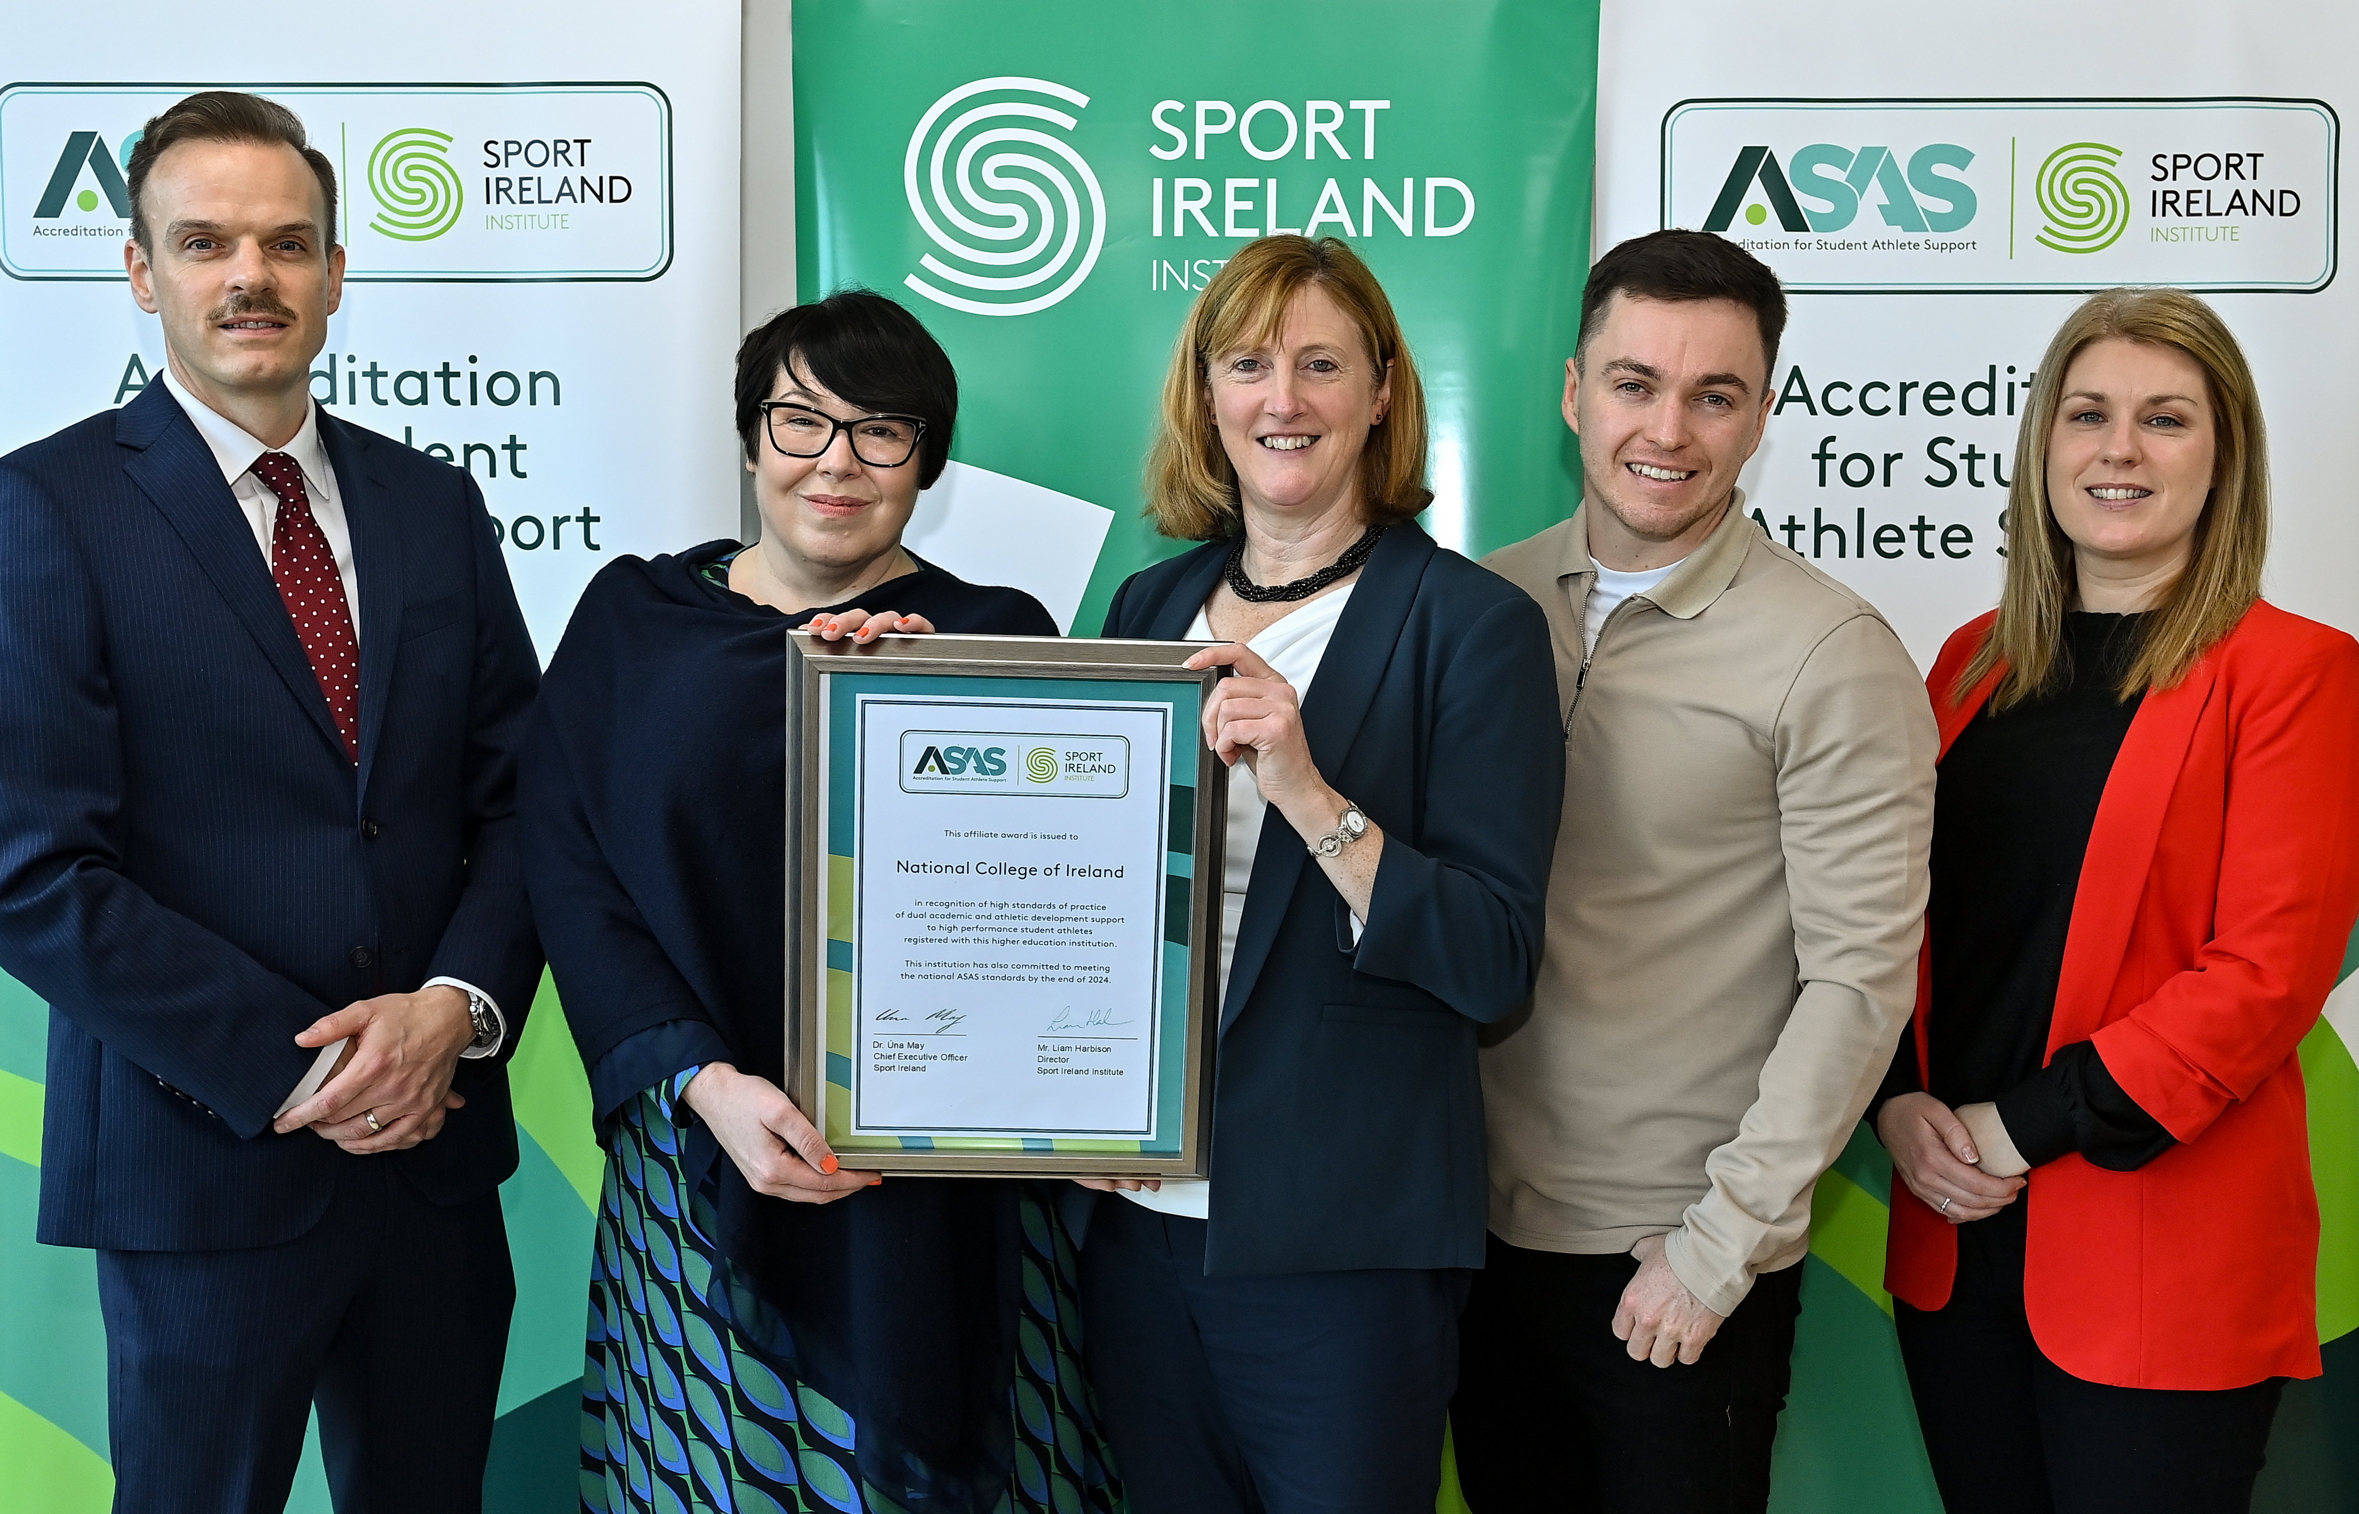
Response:
[[[2081,858],[2142,703],[2118,696],[2137,625],[2140,616],[2064,616],[2069,684],[2000,715],[1977,712],[1934,790],[1927,1092],[1951,1108],[1996,1099],[2033,1167],[2078,1151],[2097,1167],[2135,1172],[2173,1146],[2095,1045],[2045,1056]],[[1916,1087],[1916,1040],[1904,1035],[1878,1101]],[[2000,1215],[2019,1222],[2022,1205]]]

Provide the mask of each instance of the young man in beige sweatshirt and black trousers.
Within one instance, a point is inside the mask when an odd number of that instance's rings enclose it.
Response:
[[[1786,297],[1656,231],[1583,295],[1583,507],[1486,566],[1548,611],[1564,821],[1531,1007],[1484,1049],[1474,1509],[1762,1509],[1809,1196],[1916,1000],[1934,722],[1866,599],[1736,472]]]

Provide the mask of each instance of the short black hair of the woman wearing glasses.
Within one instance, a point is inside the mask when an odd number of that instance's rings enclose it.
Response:
[[[753,460],[762,443],[762,401],[778,370],[819,380],[835,399],[875,415],[915,415],[918,488],[934,488],[951,460],[958,424],[958,370],[934,333],[885,295],[842,288],[778,311],[738,342],[738,441]]]

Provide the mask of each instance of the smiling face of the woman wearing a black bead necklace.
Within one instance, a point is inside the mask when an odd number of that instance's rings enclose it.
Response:
[[[1288,299],[1274,342],[1215,354],[1205,389],[1246,509],[1361,512],[1359,458],[1392,406],[1392,375],[1323,288]]]

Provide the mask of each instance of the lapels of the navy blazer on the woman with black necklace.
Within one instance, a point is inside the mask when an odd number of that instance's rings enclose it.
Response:
[[[1312,762],[1328,783],[1342,771],[1352,740],[1359,736],[1375,689],[1392,660],[1392,649],[1401,639],[1408,606],[1425,578],[1425,564],[1434,557],[1434,538],[1418,531],[1413,521],[1401,521],[1385,533],[1368,566],[1361,568],[1352,587],[1352,601],[1335,620],[1335,634],[1326,656],[1319,658],[1319,677],[1302,698],[1302,736],[1309,740]],[[1210,582],[1205,594],[1210,594]],[[1201,604],[1201,599],[1198,599]],[[1382,823],[1382,816],[1371,816]],[[1246,884],[1246,915],[1236,924],[1236,955],[1229,962],[1229,990],[1222,995],[1220,1028],[1236,1023],[1253,983],[1262,976],[1269,948],[1279,939],[1279,922],[1295,898],[1295,884],[1309,851],[1302,837],[1276,809],[1262,818],[1262,840],[1253,851],[1253,880]]]

